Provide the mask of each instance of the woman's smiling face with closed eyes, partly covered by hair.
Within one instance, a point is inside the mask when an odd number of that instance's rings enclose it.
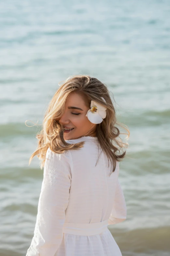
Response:
[[[65,128],[64,140],[78,139],[82,136],[96,136],[96,124],[92,124],[86,114],[89,108],[85,105],[84,99],[77,93],[72,92],[66,100],[64,114],[59,122]]]

